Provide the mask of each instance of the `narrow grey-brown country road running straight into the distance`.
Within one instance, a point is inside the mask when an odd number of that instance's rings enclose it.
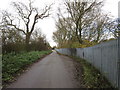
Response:
[[[78,88],[74,69],[73,60],[54,51],[7,88]]]

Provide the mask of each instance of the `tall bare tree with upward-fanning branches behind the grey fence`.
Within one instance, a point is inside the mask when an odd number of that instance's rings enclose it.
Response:
[[[75,24],[75,32],[80,44],[82,44],[82,32],[96,18],[97,10],[102,6],[102,1],[78,2],[69,0],[65,3],[67,11]],[[96,10],[97,9],[97,10]],[[92,17],[90,16],[92,15]]]

